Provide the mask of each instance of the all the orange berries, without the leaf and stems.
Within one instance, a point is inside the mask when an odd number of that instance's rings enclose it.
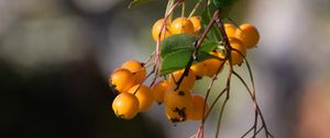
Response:
[[[163,41],[174,34],[190,33],[198,35],[201,28],[200,18],[177,18],[172,23],[164,19],[158,20],[152,28],[152,36],[157,42]],[[163,30],[165,28],[165,30]],[[163,31],[163,32],[162,32]],[[242,24],[237,27],[233,24],[226,23],[224,31],[229,37],[232,65],[240,65],[246,55],[248,48],[253,48],[258,42],[260,34],[251,24]],[[226,51],[212,50],[210,53],[221,59],[224,59]],[[216,58],[207,59],[190,67],[189,73],[184,76],[180,85],[178,80],[183,77],[184,70],[169,73],[168,79],[160,79],[154,85],[144,84],[146,79],[146,69],[144,64],[135,60],[124,62],[116,69],[109,83],[119,93],[112,102],[114,114],[123,119],[133,118],[138,113],[147,111],[153,102],[164,103],[167,118],[174,123],[180,123],[186,119],[200,120],[209,112],[207,101],[202,95],[193,94],[191,90],[196,80],[202,77],[213,77],[223,65],[224,60]],[[227,64],[229,64],[227,61]]]

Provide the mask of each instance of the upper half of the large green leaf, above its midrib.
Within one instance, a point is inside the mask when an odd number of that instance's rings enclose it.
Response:
[[[197,36],[193,34],[177,34],[172,35],[165,38],[161,43],[161,56],[164,58],[166,55],[170,54],[172,51],[185,48],[194,48],[194,43],[197,39]]]

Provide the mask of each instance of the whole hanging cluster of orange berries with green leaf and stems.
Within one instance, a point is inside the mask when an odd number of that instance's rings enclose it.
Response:
[[[134,0],[131,5],[141,1]],[[242,137],[255,137],[261,131],[266,137],[273,137],[256,102],[252,70],[246,59],[248,49],[256,47],[260,33],[254,25],[237,25],[224,15],[233,3],[234,0],[199,0],[190,14],[185,16],[185,0],[168,0],[164,18],[152,26],[151,34],[156,43],[153,55],[144,62],[124,62],[109,78],[110,87],[118,93],[112,102],[114,114],[120,118],[131,119],[136,114],[146,112],[154,102],[164,103],[164,114],[173,123],[201,120],[195,136],[202,138],[205,120],[210,112],[217,112],[213,107],[224,96],[219,111],[218,136],[229,100],[231,78],[234,76],[246,88],[255,110],[254,124]],[[195,15],[201,4],[205,5],[202,14]],[[182,15],[172,20],[174,10],[179,7]],[[226,19],[230,22],[223,23]],[[234,67],[244,62],[252,88],[234,70]],[[215,80],[226,67],[229,68],[226,87],[215,101],[209,101]],[[204,77],[211,78],[212,81],[205,94],[195,94],[191,92],[193,88]],[[147,79],[151,80],[148,84],[145,81]]]

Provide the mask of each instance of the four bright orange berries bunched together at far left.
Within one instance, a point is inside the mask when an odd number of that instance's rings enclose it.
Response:
[[[109,84],[119,93],[112,102],[112,110],[118,117],[133,118],[152,105],[154,99],[151,89],[142,84],[145,76],[144,65],[135,60],[124,62],[111,73]]]

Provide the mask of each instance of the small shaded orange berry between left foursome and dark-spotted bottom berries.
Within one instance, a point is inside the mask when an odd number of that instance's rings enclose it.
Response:
[[[166,80],[158,81],[153,88],[152,93],[154,95],[154,100],[158,103],[164,102],[164,94],[169,87],[169,82]]]

